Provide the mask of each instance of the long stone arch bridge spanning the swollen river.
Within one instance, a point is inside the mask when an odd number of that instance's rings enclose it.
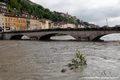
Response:
[[[120,33],[119,27],[112,28],[79,28],[79,29],[42,29],[27,31],[9,31],[1,32],[1,40],[19,40],[22,36],[35,38],[38,40],[49,40],[50,37],[57,34],[71,35],[76,40],[83,41],[99,41],[100,38],[107,34]]]

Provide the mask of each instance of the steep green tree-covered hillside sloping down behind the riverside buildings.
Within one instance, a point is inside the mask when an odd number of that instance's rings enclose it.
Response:
[[[4,0],[7,1],[7,0]],[[16,15],[21,13],[29,13],[39,19],[49,19],[54,22],[74,23],[79,24],[79,19],[73,16],[63,16],[60,12],[50,11],[41,5],[35,4],[30,0],[8,0],[8,9]]]

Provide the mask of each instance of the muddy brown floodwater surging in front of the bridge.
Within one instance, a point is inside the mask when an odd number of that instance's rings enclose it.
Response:
[[[87,66],[69,70],[76,49]],[[0,41],[0,80],[120,80],[120,43]]]

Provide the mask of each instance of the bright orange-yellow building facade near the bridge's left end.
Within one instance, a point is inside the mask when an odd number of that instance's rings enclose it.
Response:
[[[27,30],[27,20],[23,17],[5,15],[4,31]]]

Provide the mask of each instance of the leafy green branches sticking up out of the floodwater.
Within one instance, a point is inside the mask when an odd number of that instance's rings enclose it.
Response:
[[[70,67],[70,69],[76,69],[83,65],[87,65],[87,60],[85,56],[81,54],[79,50],[77,50],[75,53],[75,58],[72,59],[72,62],[68,64],[68,67]]]

